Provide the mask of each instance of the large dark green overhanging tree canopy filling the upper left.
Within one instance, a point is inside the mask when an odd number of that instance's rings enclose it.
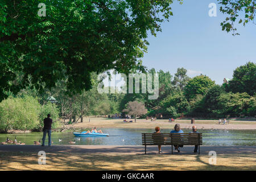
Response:
[[[180,1],[180,0],[178,0]],[[90,89],[90,72],[143,70],[147,32],[156,35],[172,15],[172,0],[38,0],[0,2],[0,83],[18,92],[31,82],[42,89],[68,77],[71,92]],[[39,6],[39,7],[38,7]],[[160,14],[160,16],[158,15]],[[16,82],[22,72],[22,83]]]

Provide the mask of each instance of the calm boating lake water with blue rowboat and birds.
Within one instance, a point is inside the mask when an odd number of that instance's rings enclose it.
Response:
[[[183,130],[188,133],[191,130]],[[255,146],[256,130],[198,130],[203,133],[203,145],[209,146]],[[117,146],[139,146],[142,145],[141,133],[153,133],[151,129],[102,129],[103,133],[108,133],[109,137],[75,137],[71,132],[53,132],[53,144],[69,144],[69,141],[76,140],[79,145],[117,145]],[[170,130],[163,129],[162,133],[170,133]],[[17,138],[26,144],[33,144],[35,140],[42,140],[43,133],[18,133],[18,134],[0,134],[0,142],[5,142],[6,138],[14,140]],[[80,140],[78,140],[80,138]],[[59,142],[59,139],[62,139]],[[46,137],[46,145],[48,137]]]

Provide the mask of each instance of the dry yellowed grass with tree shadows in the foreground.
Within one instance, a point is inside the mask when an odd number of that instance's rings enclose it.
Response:
[[[30,152],[2,152],[0,170],[256,170],[255,155],[46,154],[46,165]]]

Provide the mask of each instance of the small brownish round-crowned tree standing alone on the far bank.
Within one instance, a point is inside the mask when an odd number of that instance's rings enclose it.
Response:
[[[147,114],[147,109],[142,102],[130,101],[128,102],[127,109],[123,109],[123,112],[134,115],[136,122],[137,116]]]

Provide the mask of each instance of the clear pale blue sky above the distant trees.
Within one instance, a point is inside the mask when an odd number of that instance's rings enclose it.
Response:
[[[217,17],[208,15],[209,3],[216,3]],[[162,32],[156,37],[149,34],[143,65],[172,75],[183,67],[190,77],[202,73],[222,84],[224,77],[232,78],[233,70],[240,65],[255,63],[256,25],[237,24],[238,36],[221,31],[220,23],[226,16],[219,8],[215,0],[184,0],[183,5],[175,2],[174,16],[162,23]]]

